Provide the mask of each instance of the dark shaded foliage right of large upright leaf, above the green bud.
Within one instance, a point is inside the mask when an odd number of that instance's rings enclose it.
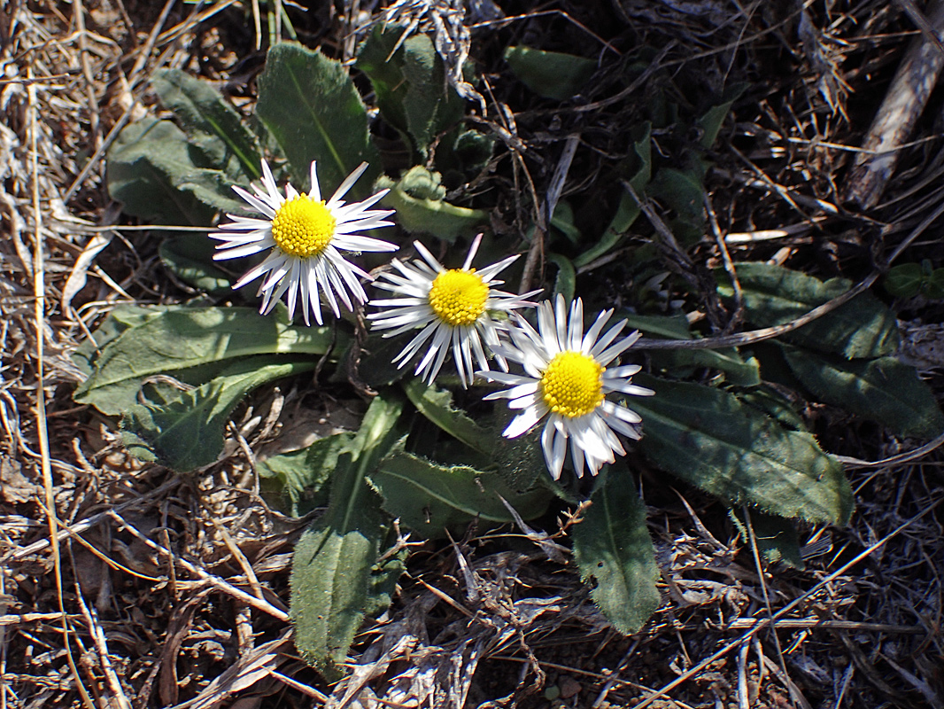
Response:
[[[430,145],[463,117],[464,101],[446,80],[442,59],[425,34],[399,47],[402,26],[376,26],[358,52],[380,113],[425,160]],[[396,51],[394,51],[396,47]]]

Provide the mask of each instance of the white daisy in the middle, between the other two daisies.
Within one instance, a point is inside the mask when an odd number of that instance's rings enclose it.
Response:
[[[422,375],[428,384],[436,378],[450,350],[463,387],[471,383],[474,376],[473,356],[480,370],[488,370],[488,358],[482,340],[489,350],[495,352],[498,330],[507,326],[507,314],[515,308],[533,305],[528,299],[541,292],[532,290],[530,293],[514,295],[493,287],[504,283],[495,276],[511,266],[518,254],[481,270],[470,268],[476,251],[479,251],[481,236],[479,234],[472,242],[463,268],[448,270],[426,247],[418,241],[414,242],[416,251],[423,259],[403,263],[395,258],[391,265],[398,272],[380,274],[375,284],[397,297],[370,302],[383,308],[367,316],[373,320],[373,329],[389,329],[390,332],[383,337],[394,337],[422,328],[396,355],[394,362],[398,363],[398,367],[403,367],[429,342],[426,354],[416,365],[416,373]],[[507,372],[508,363],[504,358],[496,355],[496,359]]]

